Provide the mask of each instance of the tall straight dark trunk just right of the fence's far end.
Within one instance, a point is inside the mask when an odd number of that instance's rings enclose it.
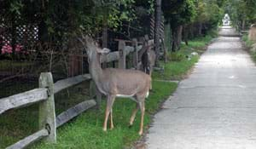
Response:
[[[156,60],[155,65],[158,66],[160,57],[160,22],[161,22],[161,0],[156,0],[155,5],[155,21],[154,21],[154,43],[155,43],[155,54]]]

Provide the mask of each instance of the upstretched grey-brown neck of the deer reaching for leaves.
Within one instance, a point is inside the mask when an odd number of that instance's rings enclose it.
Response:
[[[93,53],[89,62],[89,71],[92,79],[97,83],[101,82],[103,77],[100,55]]]

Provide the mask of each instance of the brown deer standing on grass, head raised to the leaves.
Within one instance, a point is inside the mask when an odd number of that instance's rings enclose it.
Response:
[[[107,106],[105,111],[105,119],[103,123],[103,131],[107,131],[108,117],[110,116],[110,129],[113,129],[113,102],[116,97],[130,98],[137,102],[136,108],[133,110],[130,118],[130,127],[133,125],[137,111],[141,111],[141,123],[139,135],[143,135],[143,120],[145,112],[145,99],[148,97],[151,77],[141,71],[119,68],[102,69],[100,56],[108,54],[110,49],[100,48],[89,36],[79,38],[88,55],[89,72],[96,83],[96,88],[107,96]],[[84,42],[85,41],[85,42]]]

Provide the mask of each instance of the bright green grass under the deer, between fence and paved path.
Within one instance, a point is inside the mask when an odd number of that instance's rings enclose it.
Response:
[[[165,100],[170,93],[177,88],[177,83],[153,82],[154,93],[150,94],[146,100],[146,115],[144,123],[150,123],[150,115],[159,108],[160,103]],[[105,102],[102,110],[96,112],[90,110],[77,117],[72,123],[67,123],[58,129],[58,143],[44,144],[39,143],[32,148],[123,148],[131,146],[134,140],[139,139],[138,130],[140,114],[137,114],[132,128],[128,127],[132,109],[136,103],[132,100],[117,99],[113,105],[113,121],[115,128],[102,131]]]

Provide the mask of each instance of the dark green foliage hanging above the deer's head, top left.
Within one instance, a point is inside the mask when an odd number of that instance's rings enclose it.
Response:
[[[135,0],[11,0],[1,3],[0,16],[6,26],[14,26],[12,20],[16,26],[37,23],[40,40],[45,37],[48,41],[65,44],[80,30],[97,34],[102,32],[104,25],[115,30],[124,21],[137,19],[136,3]],[[146,3],[150,5],[145,7],[146,10],[152,11],[153,1],[147,0]]]

